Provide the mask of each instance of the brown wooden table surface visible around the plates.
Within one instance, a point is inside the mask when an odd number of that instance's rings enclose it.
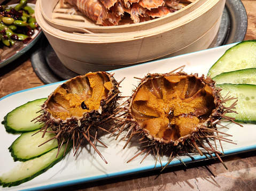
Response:
[[[3,1],[0,1],[2,4]],[[9,1],[10,4],[17,1]],[[35,3],[36,0],[29,1]],[[256,1],[242,0],[248,17],[244,40],[256,39]],[[18,60],[0,68],[0,98],[19,90],[44,85],[36,76],[30,49]],[[226,170],[218,160],[188,164],[140,173],[116,179],[75,185],[54,190],[256,190],[256,152],[222,158]]]

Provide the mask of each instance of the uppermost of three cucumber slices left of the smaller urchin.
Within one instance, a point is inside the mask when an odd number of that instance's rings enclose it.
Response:
[[[2,121],[5,130],[12,134],[17,134],[39,129],[41,124],[35,123],[32,120],[38,117],[39,114],[36,112],[41,110],[40,106],[43,105],[45,100],[46,98],[36,99],[7,113]]]

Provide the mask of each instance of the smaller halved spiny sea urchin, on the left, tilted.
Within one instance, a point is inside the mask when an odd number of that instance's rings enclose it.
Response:
[[[113,114],[120,97],[118,86],[113,75],[103,71],[67,80],[42,105],[42,114],[37,118],[44,123],[41,131],[51,128],[59,147],[73,141],[73,149],[77,149],[86,138],[106,162],[90,138],[97,140],[97,131],[92,133],[93,129],[105,130],[101,126]]]

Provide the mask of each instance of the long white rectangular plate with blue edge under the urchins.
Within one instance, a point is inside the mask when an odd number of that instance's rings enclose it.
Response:
[[[199,75],[207,74],[208,69],[210,69],[210,67],[219,59],[219,57],[221,57],[226,49],[231,46],[234,46],[234,44],[207,49],[205,51],[196,53],[180,55],[169,59],[144,63],[141,65],[135,65],[134,67],[114,70],[114,77],[118,81],[120,81],[123,77],[126,77],[126,79],[121,83],[122,87],[120,90],[122,92],[122,96],[129,96],[134,88],[134,85],[138,84],[138,80],[134,77],[143,78],[148,72],[169,72],[180,67],[181,65],[186,65],[184,68],[185,72],[199,73]],[[37,98],[47,97],[60,84],[61,82],[58,82],[55,84],[22,90],[1,98],[1,121],[3,120],[4,116],[8,112],[15,109],[15,107]],[[243,127],[240,127],[237,124],[227,123],[227,127],[229,127],[229,129],[223,129],[223,132],[231,134],[231,139],[234,143],[237,143],[237,145],[222,142],[224,153],[226,155],[256,150],[255,124],[243,124]],[[18,136],[19,135],[7,133],[3,124],[0,124],[0,175],[9,171],[19,163],[13,162],[11,154],[8,150],[8,147]],[[90,148],[88,144],[87,147],[82,148],[75,157],[73,156],[72,152],[69,152],[64,160],[60,161],[54,167],[42,175],[37,176],[33,180],[25,182],[19,186],[10,188],[0,187],[0,189],[45,190],[153,170],[155,165],[153,155],[146,157],[142,163],[140,162],[144,155],[140,155],[133,161],[127,163],[131,157],[141,151],[141,148],[138,147],[137,140],[133,139],[133,142],[129,144],[125,150],[123,150],[123,145],[125,145],[126,142],[120,139],[114,140],[113,137],[106,135],[100,137],[100,140],[102,140],[103,143],[108,146],[108,148],[104,148],[99,144],[97,145],[98,150],[103,154],[108,164],[105,164],[94,149]],[[167,157],[168,156],[164,156],[162,159],[163,165],[166,164]],[[191,154],[181,156],[181,158],[183,162],[189,163],[205,160],[206,156]],[[180,164],[182,163],[179,159],[174,159],[168,165],[168,167],[174,167],[175,165]],[[159,162],[157,163],[157,168],[161,168]]]

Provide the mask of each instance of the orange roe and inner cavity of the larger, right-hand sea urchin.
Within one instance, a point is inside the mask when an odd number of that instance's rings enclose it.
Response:
[[[147,79],[131,101],[131,114],[139,126],[164,142],[197,132],[214,108],[210,86],[187,74]]]

